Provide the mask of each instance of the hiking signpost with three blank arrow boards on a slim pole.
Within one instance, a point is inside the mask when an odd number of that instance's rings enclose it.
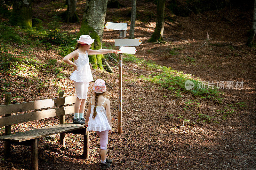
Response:
[[[105,25],[107,29],[119,30],[119,39],[115,39],[115,46],[119,46],[119,103],[118,103],[118,134],[122,134],[122,88],[123,88],[123,54],[135,54],[135,47],[123,46],[138,46],[141,44],[139,39],[123,39],[126,37],[127,24],[107,22]]]

